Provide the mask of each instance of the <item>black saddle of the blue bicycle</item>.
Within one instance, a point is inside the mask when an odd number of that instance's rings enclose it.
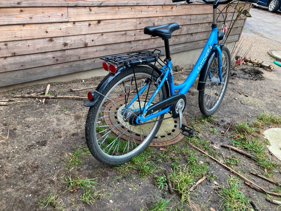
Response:
[[[171,38],[172,33],[175,30],[179,29],[179,24],[177,23],[168,23],[165,25],[159,26],[147,26],[144,28],[144,33],[148,35],[152,35],[153,37],[161,37],[161,38]]]

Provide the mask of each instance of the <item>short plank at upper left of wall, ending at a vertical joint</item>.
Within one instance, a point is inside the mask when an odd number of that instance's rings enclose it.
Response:
[[[67,22],[66,7],[0,8],[0,25]]]

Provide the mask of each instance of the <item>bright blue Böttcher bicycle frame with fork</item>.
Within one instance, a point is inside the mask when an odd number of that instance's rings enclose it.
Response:
[[[216,11],[214,10],[214,17],[216,17]],[[214,26],[213,26],[214,25]],[[160,68],[162,72],[164,72],[164,76],[160,82],[160,84],[157,86],[156,90],[150,97],[148,103],[145,105],[145,108],[141,108],[141,113],[145,114],[145,112],[148,110],[149,106],[151,105],[154,97],[156,94],[160,91],[161,87],[163,86],[164,82],[166,79],[168,79],[169,83],[169,91],[171,96],[175,95],[175,90],[179,90],[177,93],[179,94],[186,94],[187,91],[190,89],[196,78],[198,77],[198,74],[200,73],[201,69],[203,68],[205,62],[207,61],[211,50],[215,50],[218,55],[218,70],[219,70],[219,77],[220,77],[220,83],[222,83],[222,67],[221,67],[221,57],[222,57],[222,51],[220,49],[220,46],[217,45],[217,24],[215,21],[215,18],[213,19],[213,25],[212,25],[212,32],[208,38],[208,41],[205,44],[205,47],[203,48],[203,51],[201,52],[201,55],[199,59],[197,60],[196,64],[194,65],[192,71],[186,78],[186,80],[179,85],[174,85],[174,79],[173,79],[173,73],[172,73],[172,61],[168,61],[167,64]],[[211,79],[210,73],[209,73],[209,79]],[[134,101],[138,98],[138,96],[145,91],[145,89],[148,87],[148,83],[145,84],[141,90],[138,91],[138,94],[127,104],[125,109],[128,109]],[[148,120],[151,120],[159,115],[168,113],[169,111],[172,110],[172,106],[169,106],[163,110],[160,110],[156,113],[151,113],[150,115],[139,115],[138,118],[136,119],[136,123],[140,124],[142,122],[146,122]],[[140,109],[139,109],[140,111]]]

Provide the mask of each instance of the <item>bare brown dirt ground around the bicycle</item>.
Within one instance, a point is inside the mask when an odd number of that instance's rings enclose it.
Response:
[[[255,41],[249,55],[253,53],[253,57],[256,57],[254,55],[256,50],[263,49],[264,52],[259,59],[268,64],[272,61],[266,52],[277,48],[275,42],[248,29],[245,29],[242,36],[245,39],[245,46]],[[247,50],[247,47],[244,48]],[[196,84],[186,94],[185,118],[187,121],[201,125],[196,135],[200,134],[201,138],[207,139],[211,147],[222,153],[221,157],[230,154],[239,157],[241,162],[233,168],[247,175],[266,190],[272,190],[274,185],[247,174],[248,171],[254,170],[266,173],[266,169],[259,167],[256,161],[235,152],[230,153],[220,145],[229,144],[231,138],[227,137],[235,134],[234,127],[239,122],[251,121],[263,112],[277,116],[281,114],[280,74],[281,67],[276,65],[273,72],[245,64],[233,69],[222,104],[209,123],[196,120],[201,116]],[[186,73],[175,74],[174,78],[177,83],[181,83],[186,75]],[[94,86],[100,80],[95,78],[84,82],[51,84],[50,91],[52,95],[85,96],[87,91],[70,92],[70,89]],[[10,90],[0,93],[0,98],[12,99],[16,94],[44,92],[46,85]],[[134,170],[124,174],[118,168],[103,165],[87,153],[81,156],[80,164],[67,168],[67,159],[73,151],[79,146],[87,147],[84,132],[87,112],[88,108],[84,107],[83,100],[79,99],[47,99],[46,103],[42,104],[38,99],[20,98],[10,102],[8,106],[0,106],[0,210],[40,210],[42,207],[38,205],[38,201],[49,193],[58,194],[55,201],[60,206],[57,207],[59,210],[151,210],[159,198],[166,200],[172,198],[168,205],[171,208],[167,210],[192,210],[187,203],[180,203],[179,193],[175,192],[172,197],[167,188],[161,190],[155,185],[155,176],[163,174],[165,169],[174,167],[172,159],[161,163],[157,159],[153,160],[158,168],[145,178],[140,178],[138,172]],[[231,122],[233,123],[228,134],[222,136],[221,131],[226,131]],[[276,125],[268,124],[261,130],[274,126]],[[216,134],[210,131],[214,128]],[[8,139],[5,140],[3,137],[7,134]],[[261,135],[257,137],[263,139]],[[186,146],[186,140],[182,140],[178,146]],[[188,144],[187,146],[193,150]],[[155,156],[161,153],[163,152],[157,147],[151,151]],[[214,210],[223,210],[222,199],[216,190],[227,186],[227,178],[232,173],[200,152],[197,152],[196,157],[198,162],[200,160],[207,164],[213,179],[203,181],[191,194],[191,200],[199,210],[211,210],[211,207]],[[270,156],[270,159],[275,160],[273,156]],[[184,165],[185,162],[187,161],[183,160],[181,164]],[[72,192],[67,190],[68,183],[65,182],[65,178],[69,176],[96,178],[95,182],[98,183],[96,188],[101,190],[103,197],[97,198],[92,205],[79,200],[81,190]],[[280,172],[273,172],[271,178],[280,181]],[[194,182],[197,180],[198,178],[195,178]],[[240,182],[244,195],[256,202],[262,210],[277,209],[277,205],[265,200],[265,194],[249,188],[241,179]],[[54,209],[52,204],[42,208],[42,210]]]

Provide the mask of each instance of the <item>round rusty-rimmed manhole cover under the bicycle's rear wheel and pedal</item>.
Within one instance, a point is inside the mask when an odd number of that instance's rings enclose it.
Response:
[[[113,103],[112,101],[109,101],[107,103],[107,106],[104,109],[104,121],[108,125],[120,125],[118,127],[112,128],[112,132],[114,132],[116,135],[120,135],[122,131],[125,131],[121,135],[123,139],[129,140],[129,136],[130,136],[137,143],[141,143],[142,140],[137,127],[135,129],[125,130],[126,128],[131,128],[128,122],[124,122],[122,116],[117,115],[117,113],[115,115],[109,115],[108,113],[109,110],[121,109],[121,108],[117,108],[116,105],[121,105],[123,101],[124,101],[124,97],[120,97],[114,99],[114,102],[116,104]],[[164,118],[168,118],[168,117],[172,117],[172,114],[167,113],[164,115]],[[120,124],[120,122],[122,122],[122,124]],[[183,119],[183,124],[186,124],[185,119]],[[153,125],[154,123],[150,123],[150,124],[145,124],[142,127],[143,130],[145,130],[145,128],[151,129]],[[149,146],[162,147],[179,142],[181,139],[184,138],[184,135],[181,134],[181,130],[179,130],[178,126],[179,126],[178,119],[169,118],[163,120],[160,129],[158,130],[157,134],[155,135],[154,139],[149,144]]]

